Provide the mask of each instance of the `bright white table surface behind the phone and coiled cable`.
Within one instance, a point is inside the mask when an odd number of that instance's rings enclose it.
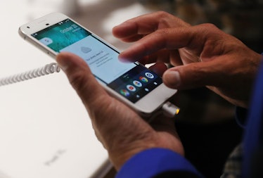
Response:
[[[0,77],[54,62],[20,38],[18,27],[46,13],[64,11],[62,3],[0,2]],[[136,1],[82,0],[79,5],[81,13],[72,18],[121,50],[127,44],[112,37],[112,27],[148,12]],[[0,112],[0,178],[92,177],[108,160],[63,72],[0,87]]]

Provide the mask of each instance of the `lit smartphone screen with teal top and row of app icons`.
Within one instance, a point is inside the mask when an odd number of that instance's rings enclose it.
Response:
[[[31,35],[53,51],[68,51],[83,58],[99,82],[132,103],[162,84],[162,79],[143,65],[119,61],[113,47],[70,19]]]

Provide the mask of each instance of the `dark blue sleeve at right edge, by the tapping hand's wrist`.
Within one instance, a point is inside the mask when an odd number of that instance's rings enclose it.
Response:
[[[262,57],[263,60],[263,57]],[[254,159],[262,158],[259,155],[263,152],[263,63],[261,63],[255,87],[248,110],[248,120],[245,126],[243,139],[243,177],[249,177],[251,172],[255,172]],[[261,151],[261,152],[260,152]],[[260,160],[261,164],[263,160]],[[254,163],[255,164],[255,163]],[[257,164],[258,165],[258,164]],[[262,168],[257,170],[262,172]],[[262,173],[263,174],[263,173]],[[259,176],[260,177],[260,176]]]

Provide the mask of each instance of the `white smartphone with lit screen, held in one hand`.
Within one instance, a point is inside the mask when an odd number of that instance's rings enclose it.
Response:
[[[140,63],[120,62],[114,46],[63,13],[32,20],[19,28],[19,34],[53,58],[62,51],[77,54],[111,95],[142,115],[152,114],[177,92]]]

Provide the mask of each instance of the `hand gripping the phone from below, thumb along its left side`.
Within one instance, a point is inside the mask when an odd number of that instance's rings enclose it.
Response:
[[[147,148],[168,148],[184,155],[171,118],[161,115],[149,125],[134,110],[108,95],[82,58],[60,53],[57,62],[82,99],[96,136],[117,170],[132,155]]]

